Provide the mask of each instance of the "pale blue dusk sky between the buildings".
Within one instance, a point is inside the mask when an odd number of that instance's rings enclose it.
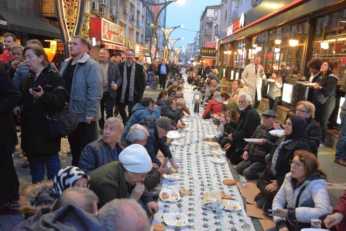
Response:
[[[184,46],[186,49],[188,43],[193,43],[199,30],[199,18],[202,11],[206,9],[206,6],[219,4],[221,4],[221,0],[185,0],[183,4],[178,1],[168,5],[166,28],[184,25],[184,28],[177,28],[170,35],[170,39],[184,38],[184,40],[177,41],[174,47]]]

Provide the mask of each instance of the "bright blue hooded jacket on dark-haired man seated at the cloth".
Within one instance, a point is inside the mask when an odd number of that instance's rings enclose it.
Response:
[[[129,133],[130,128],[134,124],[138,124],[142,119],[158,119],[161,115],[161,107],[155,107],[153,114],[151,114],[145,107],[143,107],[141,104],[136,104],[132,108],[132,115],[127,122],[127,125],[124,129],[124,133],[122,133],[121,141],[126,140],[126,136]]]

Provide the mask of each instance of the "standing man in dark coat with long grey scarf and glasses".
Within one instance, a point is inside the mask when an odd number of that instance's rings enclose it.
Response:
[[[143,66],[134,61],[135,55],[133,49],[128,49],[126,51],[126,62],[118,64],[122,84],[118,87],[117,104],[124,126],[132,115],[133,106],[142,100],[145,86]],[[126,105],[128,106],[128,116],[125,112]]]

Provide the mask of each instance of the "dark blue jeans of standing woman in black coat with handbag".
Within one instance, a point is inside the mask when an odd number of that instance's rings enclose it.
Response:
[[[33,184],[44,180],[44,166],[47,168],[48,180],[54,179],[55,175],[61,169],[59,153],[43,154],[35,152],[26,153],[30,163],[30,175]]]

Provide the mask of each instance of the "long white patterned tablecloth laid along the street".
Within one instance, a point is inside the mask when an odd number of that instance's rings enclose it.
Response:
[[[174,181],[173,190],[179,192],[180,189],[188,189],[193,194],[191,196],[181,196],[178,202],[163,202],[158,200],[159,211],[154,215],[151,230],[156,223],[164,223],[163,215],[165,213],[174,213],[179,206],[181,211],[188,218],[188,225],[184,227],[169,227],[166,230],[203,230],[203,231],[243,231],[255,230],[251,218],[248,217],[244,211],[244,204],[240,196],[237,186],[226,186],[222,184],[224,179],[233,179],[229,170],[227,160],[225,164],[215,164],[209,160],[211,155],[209,146],[206,141],[201,138],[208,134],[216,133],[216,126],[212,123],[202,124],[201,115],[203,112],[193,113],[192,102],[193,91],[186,87],[184,89],[184,98],[186,104],[191,112],[192,117],[184,117],[190,120],[186,124],[184,131],[185,134],[181,138],[184,144],[181,146],[171,145],[170,149],[172,154],[181,168],[180,180]],[[204,120],[205,121],[205,120]],[[188,130],[193,128],[193,132]],[[162,189],[167,188],[169,182],[163,179]],[[222,211],[222,214],[216,214],[215,211],[204,210],[202,208],[202,195],[208,190],[220,190],[227,193],[242,207],[238,212]],[[179,205],[179,206],[178,206]]]

